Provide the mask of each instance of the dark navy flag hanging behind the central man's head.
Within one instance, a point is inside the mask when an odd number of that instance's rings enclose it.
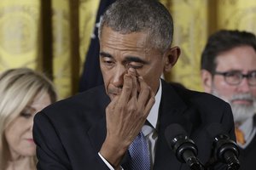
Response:
[[[100,25],[100,19],[106,8],[113,3],[114,0],[101,0],[97,16],[94,33],[90,38],[90,47],[88,49],[86,59],[84,62],[84,71],[79,82],[79,92],[83,92],[87,89],[94,88],[98,85],[103,84],[102,72],[100,69],[99,61],[99,39],[98,39],[98,28]]]

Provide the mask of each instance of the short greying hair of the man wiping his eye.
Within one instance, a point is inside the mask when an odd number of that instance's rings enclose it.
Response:
[[[162,52],[172,44],[172,16],[165,6],[156,0],[117,0],[102,16],[99,39],[103,26],[121,34],[148,32],[151,45]]]

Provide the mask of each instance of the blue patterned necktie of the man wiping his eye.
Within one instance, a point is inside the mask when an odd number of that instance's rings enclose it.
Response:
[[[142,132],[133,140],[128,150],[131,156],[131,161],[129,162],[131,170],[150,170],[148,144]],[[128,169],[127,165],[122,167],[125,170]]]

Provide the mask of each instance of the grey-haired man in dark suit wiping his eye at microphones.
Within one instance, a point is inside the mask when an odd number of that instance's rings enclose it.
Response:
[[[178,47],[171,48],[172,32],[172,16],[157,1],[119,0],[108,8],[99,28],[104,87],[64,99],[35,116],[38,169],[189,169],[166,142],[166,127],[173,123],[198,145],[202,164],[212,158],[207,125],[223,124],[235,139],[230,105],[160,79],[180,54]],[[136,168],[137,155],[130,149],[139,135],[147,144],[137,152],[146,147],[143,158],[149,156],[149,161],[139,161]],[[220,162],[211,166],[225,169]]]

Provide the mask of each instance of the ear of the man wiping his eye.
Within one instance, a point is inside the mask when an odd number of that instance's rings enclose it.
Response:
[[[164,54],[165,63],[164,63],[164,71],[171,71],[173,65],[176,64],[177,59],[180,55],[181,51],[179,47],[169,48]]]

